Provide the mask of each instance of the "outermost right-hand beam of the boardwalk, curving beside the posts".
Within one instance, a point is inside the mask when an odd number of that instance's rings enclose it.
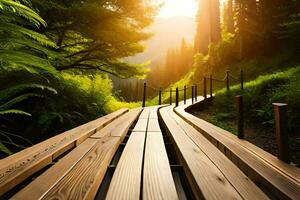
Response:
[[[233,134],[186,113],[184,107],[176,108],[175,111],[215,144],[268,195],[284,199],[299,198],[299,169],[284,164],[259,147],[239,140]]]

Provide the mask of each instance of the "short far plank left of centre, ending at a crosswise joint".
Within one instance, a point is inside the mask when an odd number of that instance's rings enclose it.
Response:
[[[108,126],[104,127],[94,135],[91,135],[91,138],[103,138],[107,136],[111,137],[121,137],[125,136],[124,132],[128,132],[131,125],[137,119],[141,113],[142,108],[136,108],[130,110],[128,113],[119,117],[117,120],[110,123]]]

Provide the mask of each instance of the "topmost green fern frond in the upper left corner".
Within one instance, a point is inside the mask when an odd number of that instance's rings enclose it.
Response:
[[[0,0],[0,9],[24,17],[32,22],[36,27],[39,27],[40,25],[47,25],[45,20],[43,20],[36,12],[16,1]]]

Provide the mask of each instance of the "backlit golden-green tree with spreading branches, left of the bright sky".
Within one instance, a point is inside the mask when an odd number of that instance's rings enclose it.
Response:
[[[157,6],[140,0],[33,0],[48,27],[41,29],[56,42],[64,59],[58,70],[99,70],[119,77],[143,76],[145,64],[123,58],[144,50],[141,41]]]

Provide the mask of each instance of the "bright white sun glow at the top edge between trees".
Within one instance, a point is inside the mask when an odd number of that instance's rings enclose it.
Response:
[[[198,10],[197,0],[161,0],[161,2],[163,3],[163,7],[159,12],[158,17],[195,17]]]

